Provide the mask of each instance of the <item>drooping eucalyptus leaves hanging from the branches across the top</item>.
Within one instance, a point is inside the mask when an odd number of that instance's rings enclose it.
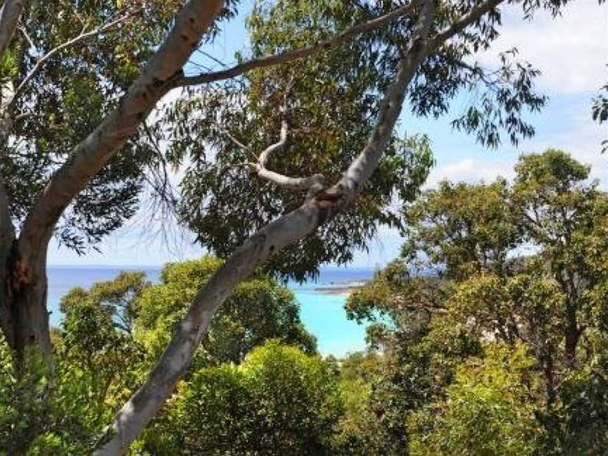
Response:
[[[15,94],[8,109],[11,140],[2,145],[0,169],[17,224],[49,175],[125,94],[169,30],[180,3],[113,1],[102,7],[99,1],[56,1],[47,8],[44,2],[28,2],[22,30],[0,62],[2,90]],[[519,3],[526,15],[538,8],[556,14],[565,1]],[[234,18],[237,6],[228,2],[186,72],[217,66],[208,44],[222,20]],[[433,30],[448,26],[470,7],[469,1],[445,2]],[[246,21],[251,56],[319,42],[394,8],[391,2],[260,0]],[[408,16],[400,18],[386,30],[374,30],[296,65],[276,65],[189,87],[179,94],[179,101],[159,105],[94,176],[61,215],[56,236],[84,253],[145,207],[151,196],[158,203],[153,208],[177,209],[179,220],[196,232],[203,246],[220,257],[232,253],[255,229],[302,199],[252,179],[243,163],[274,143],[281,120],[288,118],[289,142],[282,153],[272,156],[269,166],[286,175],[322,173],[327,182],[334,181],[369,137],[379,95],[394,75],[413,22]],[[498,36],[498,25],[500,12],[493,11],[470,33],[436,49],[407,92],[413,115],[448,115],[457,94],[476,91],[481,94],[479,103],[467,106],[453,120],[456,128],[489,146],[500,144],[501,137],[517,142],[533,134],[524,113],[545,103],[545,97],[533,90],[538,72],[518,61],[516,51],[502,53],[500,68],[465,63],[474,61],[480,49],[488,49]],[[107,28],[93,33],[100,27]],[[64,46],[83,31],[91,37]],[[243,61],[248,56],[236,57]],[[317,272],[322,262],[348,262],[355,248],[367,246],[378,224],[402,225],[391,202],[395,196],[411,201],[432,163],[428,139],[395,134],[365,193],[348,213],[274,258],[272,268],[303,278]],[[184,170],[179,189],[170,183],[172,167]]]

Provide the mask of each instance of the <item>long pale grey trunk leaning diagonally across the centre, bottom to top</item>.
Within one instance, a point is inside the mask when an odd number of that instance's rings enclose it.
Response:
[[[407,86],[428,51],[426,37],[433,18],[434,3],[435,0],[426,0],[422,8],[410,48],[400,60],[397,75],[384,95],[367,145],[341,181],[332,187],[337,191],[347,182],[353,186],[353,191],[342,195],[334,192],[331,197],[319,192],[313,198],[307,198],[300,208],[279,217],[253,234],[224,262],[198,291],[158,364],[145,384],[118,411],[94,455],[121,455],[139,436],[167,397],[175,391],[175,384],[188,367],[215,311],[236,284],[252,274],[260,262],[270,255],[302,239],[330,220],[361,191],[393,134]]]

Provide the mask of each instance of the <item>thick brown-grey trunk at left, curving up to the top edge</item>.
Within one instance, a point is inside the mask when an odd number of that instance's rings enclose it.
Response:
[[[19,296],[20,301],[15,300],[6,317],[18,328],[18,338],[11,348],[19,352],[32,343],[37,344],[51,372],[46,251],[59,217],[101,167],[137,132],[156,103],[170,91],[177,77],[183,75],[183,66],[223,6],[223,0],[186,2],[175,18],[172,30],[141,75],[122,96],[118,106],[53,173],[23,222],[12,253],[14,264],[11,267],[10,294]]]

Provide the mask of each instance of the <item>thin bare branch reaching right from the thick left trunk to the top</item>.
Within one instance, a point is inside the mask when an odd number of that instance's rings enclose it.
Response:
[[[401,6],[400,8],[397,8],[391,11],[390,13],[386,13],[377,18],[367,20],[364,23],[353,25],[353,27],[350,27],[338,34],[335,34],[333,37],[324,39],[322,42],[313,44],[312,46],[294,49],[293,51],[281,52],[272,56],[253,58],[250,61],[239,63],[239,65],[234,65],[232,68],[228,68],[227,70],[208,72],[203,75],[182,77],[175,82],[175,87],[207,84],[209,82],[226,80],[231,77],[242,75],[243,73],[251,71],[254,68],[266,68],[272,65],[277,65],[279,63],[293,61],[298,58],[310,57],[315,53],[319,53],[320,51],[331,49],[337,46],[338,44],[342,44],[343,42],[346,42],[348,39],[354,37],[357,34],[362,34],[371,30],[376,30],[381,27],[385,27],[393,20],[402,18],[403,16],[412,13],[412,11],[414,11],[414,9],[417,8],[417,6],[419,6],[420,4],[422,4],[422,0],[412,0],[409,4]]]

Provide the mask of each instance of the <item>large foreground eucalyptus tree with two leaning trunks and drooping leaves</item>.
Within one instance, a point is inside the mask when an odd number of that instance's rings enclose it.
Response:
[[[166,196],[166,167],[186,167],[180,214],[225,258],[99,454],[127,450],[215,310],[260,263],[302,278],[319,262],[348,260],[377,223],[401,223],[391,202],[414,198],[431,165],[428,142],[395,135],[406,101],[412,115],[438,117],[460,91],[486,88],[456,128],[489,146],[502,133],[533,134],[522,115],[545,101],[532,89],[538,72],[514,52],[492,70],[475,63],[498,37],[506,3],[531,17],[566,1],[260,2],[248,22],[251,56],[193,74],[194,53],[236,4],[4,2],[0,323],[18,359],[41,348],[52,377],[50,239],[94,245],[134,214],[146,171]],[[158,112],[180,88],[184,98]]]

